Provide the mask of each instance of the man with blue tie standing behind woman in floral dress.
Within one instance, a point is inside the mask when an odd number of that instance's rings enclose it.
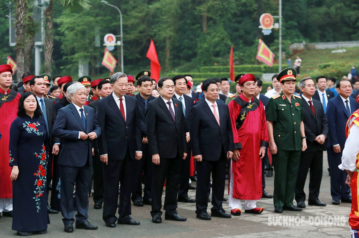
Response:
[[[52,135],[52,126],[55,122],[56,115],[54,112],[55,104],[53,104],[52,100],[45,98],[43,95],[46,92],[46,81],[41,76],[34,76],[29,81],[30,88],[32,92],[36,95],[37,101],[41,108],[41,115],[45,118],[47,133],[48,133],[48,144],[49,148],[52,148],[48,153],[48,161],[47,167],[50,168],[46,173],[46,181],[47,183],[47,196],[49,191],[50,182],[52,180],[52,155],[59,154],[59,144],[60,139],[54,138]],[[55,144],[57,143],[57,144]],[[49,205],[47,205],[47,212],[49,214],[57,214],[59,211],[51,209]]]

